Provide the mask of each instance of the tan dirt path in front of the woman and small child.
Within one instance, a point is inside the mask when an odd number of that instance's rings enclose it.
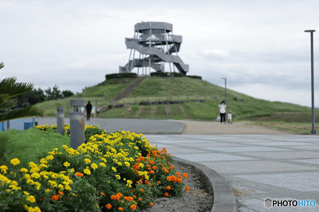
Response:
[[[185,128],[182,134],[212,135],[212,134],[262,134],[262,135],[289,135],[291,133],[272,130],[262,126],[255,126],[251,122],[234,122],[221,124],[216,121],[168,120],[182,122]]]

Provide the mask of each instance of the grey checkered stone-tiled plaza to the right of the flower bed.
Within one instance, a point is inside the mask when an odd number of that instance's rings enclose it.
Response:
[[[231,186],[252,191],[239,211],[319,211],[319,136],[147,135],[158,148],[204,164]],[[264,200],[315,200],[315,207],[264,207]]]

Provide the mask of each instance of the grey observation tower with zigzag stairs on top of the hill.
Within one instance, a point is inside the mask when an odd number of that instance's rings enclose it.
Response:
[[[134,28],[134,38],[125,38],[126,47],[131,51],[129,62],[125,66],[120,66],[120,73],[130,73],[134,67],[138,67],[137,74],[140,68],[142,74],[150,74],[151,67],[157,72],[164,72],[165,63],[169,63],[170,72],[175,72],[176,66],[181,73],[186,75],[189,66],[183,63],[177,53],[182,43],[182,36],[173,35],[173,24],[142,22],[135,24]],[[133,57],[131,58],[132,51]],[[139,52],[138,59],[134,58],[135,51]],[[173,63],[173,70],[171,63]]]

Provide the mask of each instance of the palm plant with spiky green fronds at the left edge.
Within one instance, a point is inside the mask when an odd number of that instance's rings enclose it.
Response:
[[[1,62],[0,69],[3,67],[4,63]],[[9,109],[18,103],[17,99],[10,99],[11,97],[30,92],[34,86],[32,83],[16,83],[16,80],[16,77],[9,77],[0,82],[0,122],[29,116],[40,116],[45,113],[45,109],[36,106]]]

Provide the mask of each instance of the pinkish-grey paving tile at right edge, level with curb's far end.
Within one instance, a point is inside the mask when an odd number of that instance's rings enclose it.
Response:
[[[267,158],[278,158],[278,159],[286,159],[286,158],[315,158],[319,157],[319,154],[316,152],[308,152],[308,151],[286,151],[286,152],[246,152],[242,154],[261,156]]]

